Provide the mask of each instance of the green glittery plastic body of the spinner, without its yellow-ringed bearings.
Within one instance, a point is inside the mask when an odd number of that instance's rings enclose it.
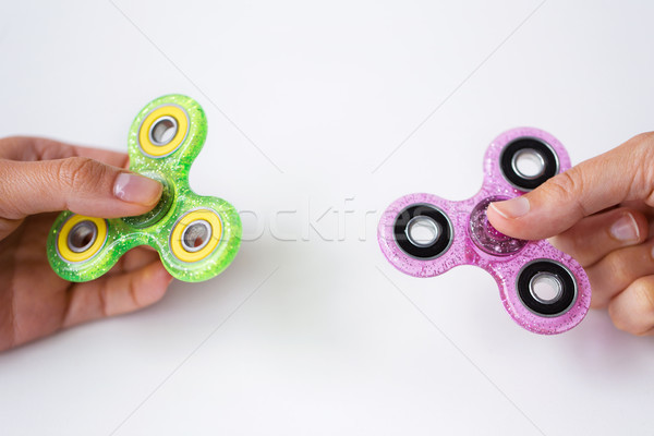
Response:
[[[187,118],[181,144],[162,157],[146,155],[140,144],[141,125],[148,114],[161,107],[178,107]],[[159,204],[138,217],[107,219],[107,239],[102,247],[85,262],[68,262],[57,249],[59,231],[73,216],[63,211],[48,235],[48,258],[52,269],[70,281],[88,281],[107,272],[129,250],[149,245],[159,252],[161,263],[177,279],[202,281],[220,274],[235,257],[241,244],[241,219],[226,201],[195,194],[189,186],[191,165],[207,136],[207,120],[202,107],[192,98],[168,95],[149,102],[134,119],[129,134],[130,169],[160,181],[165,189]],[[182,262],[171,251],[172,230],[186,213],[195,209],[215,211],[221,223],[216,249],[197,262]]]

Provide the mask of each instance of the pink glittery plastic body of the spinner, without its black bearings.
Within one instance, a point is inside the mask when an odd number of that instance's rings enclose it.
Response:
[[[570,168],[570,158],[566,149],[547,132],[533,128],[510,130],[488,146],[484,157],[484,182],[477,194],[462,202],[450,202],[436,195],[420,193],[400,197],[382,215],[378,241],[386,258],[402,272],[414,277],[438,276],[459,265],[476,265],[487,270],[497,281],[501,302],[516,323],[536,334],[560,334],[577,326],[589,311],[591,287],[585,271],[571,256],[556,250],[547,241],[520,241],[502,235],[487,222],[485,214],[489,198],[512,198],[524,193],[506,181],[499,165],[504,147],[522,137],[547,143],[558,157],[559,172]],[[443,210],[451,221],[451,245],[446,253],[436,258],[412,257],[396,242],[395,223],[398,214],[415,204],[433,205]],[[559,316],[537,315],[525,307],[518,295],[518,272],[535,259],[559,262],[577,279],[577,300]]]

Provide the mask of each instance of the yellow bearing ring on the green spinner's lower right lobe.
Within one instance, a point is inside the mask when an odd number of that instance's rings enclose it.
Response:
[[[196,235],[199,243],[195,243]],[[222,223],[214,210],[198,209],[184,215],[172,228],[170,250],[182,262],[197,262],[206,258],[220,242]]]

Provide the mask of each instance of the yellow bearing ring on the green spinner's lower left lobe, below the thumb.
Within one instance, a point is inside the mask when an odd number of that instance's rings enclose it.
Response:
[[[106,241],[105,219],[72,215],[59,230],[57,251],[66,262],[84,262],[95,256]]]

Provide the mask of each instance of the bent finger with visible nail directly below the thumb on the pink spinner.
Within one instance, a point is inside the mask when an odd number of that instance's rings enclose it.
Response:
[[[615,250],[643,242],[649,226],[641,213],[620,208],[583,218],[549,242],[585,268]]]

